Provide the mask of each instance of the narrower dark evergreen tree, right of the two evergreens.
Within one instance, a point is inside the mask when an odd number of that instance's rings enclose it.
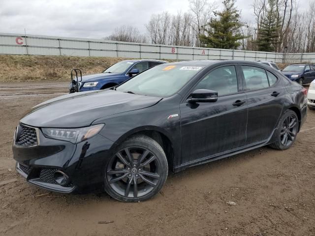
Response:
[[[260,24],[259,37],[256,40],[258,51],[274,52],[278,39],[279,39],[279,28],[277,12],[276,12],[276,1],[268,0],[269,9],[265,19]]]

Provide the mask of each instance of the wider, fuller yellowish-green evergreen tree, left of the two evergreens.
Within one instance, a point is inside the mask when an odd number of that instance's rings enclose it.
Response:
[[[240,21],[239,10],[234,6],[235,0],[224,0],[223,10],[214,12],[217,19],[211,19],[207,25],[207,35],[200,35],[202,46],[208,48],[236,49],[241,45],[239,40],[247,38],[240,33],[244,23]]]

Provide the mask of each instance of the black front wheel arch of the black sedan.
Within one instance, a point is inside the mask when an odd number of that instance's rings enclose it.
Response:
[[[116,145],[121,145],[127,138],[130,138],[131,136],[135,135],[146,135],[155,141],[158,142],[158,144],[163,148],[167,162],[168,162],[168,167],[170,170],[173,172],[175,171],[175,166],[174,166],[174,160],[175,156],[177,155],[175,148],[174,148],[174,142],[170,136],[170,134],[158,127],[158,126],[142,126],[138,127],[132,130],[129,130],[127,133],[122,135],[115,143]]]

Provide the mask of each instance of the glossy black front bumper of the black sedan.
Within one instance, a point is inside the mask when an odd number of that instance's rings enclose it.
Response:
[[[16,170],[27,182],[55,192],[71,193],[101,186],[104,167],[115,144],[100,134],[78,144],[48,139],[38,128],[39,144],[32,147],[13,144]],[[54,178],[56,171],[69,177],[62,186]]]

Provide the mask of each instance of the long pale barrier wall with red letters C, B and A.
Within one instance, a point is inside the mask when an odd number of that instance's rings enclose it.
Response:
[[[0,54],[178,60],[271,60],[275,62],[292,63],[304,61],[315,62],[315,53],[282,54],[11,33],[0,33]]]

